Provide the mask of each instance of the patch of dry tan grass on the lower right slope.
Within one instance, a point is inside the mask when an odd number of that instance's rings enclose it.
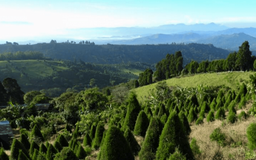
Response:
[[[242,110],[247,113],[250,107],[251,103],[247,104]],[[237,114],[241,113],[242,110],[238,110]],[[197,144],[202,150],[202,154],[200,156],[196,156],[197,160],[210,160],[217,151],[220,151],[220,153],[223,154],[223,159],[245,159],[245,154],[248,152],[246,147],[248,142],[246,137],[246,128],[249,124],[255,122],[254,116],[250,116],[242,121],[238,121],[234,124],[226,124],[224,126],[222,126],[223,121],[221,120],[215,120],[214,122],[208,123],[206,118],[204,118],[203,122],[204,123],[201,125],[195,125],[193,123],[190,126],[192,131],[189,139],[191,140],[193,137],[196,138]],[[224,147],[221,147],[217,142],[210,140],[210,134],[217,127],[221,128],[222,133],[225,133],[227,136],[227,145]]]

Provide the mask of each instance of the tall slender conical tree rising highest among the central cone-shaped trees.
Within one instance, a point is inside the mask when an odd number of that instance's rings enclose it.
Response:
[[[121,130],[125,130],[126,127],[129,127],[130,130],[134,130],[134,126],[141,110],[140,104],[136,98],[136,94],[131,92],[128,98],[128,109],[125,116],[124,124],[122,125]]]

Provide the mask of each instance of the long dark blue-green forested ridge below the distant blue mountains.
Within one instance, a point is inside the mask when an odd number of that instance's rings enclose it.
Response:
[[[40,51],[52,59],[82,60],[101,64],[144,62],[155,64],[167,53],[181,51],[184,65],[192,59],[225,59],[229,51],[204,44],[160,44],[160,45],[88,45],[71,43],[40,43],[35,45],[0,45],[0,52]]]

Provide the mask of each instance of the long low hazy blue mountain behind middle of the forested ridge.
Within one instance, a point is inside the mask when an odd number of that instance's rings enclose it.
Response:
[[[112,41],[111,44],[126,44],[126,45],[140,45],[140,44],[171,44],[171,43],[186,43],[195,42],[204,35],[196,33],[186,33],[186,34],[154,34],[150,36],[145,36],[141,38],[135,38],[123,41]]]

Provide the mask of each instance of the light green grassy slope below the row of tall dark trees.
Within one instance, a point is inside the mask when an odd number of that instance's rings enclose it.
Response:
[[[243,82],[245,84],[249,81],[249,76],[254,74],[254,72],[222,72],[222,73],[207,73],[191,75],[187,77],[171,78],[166,80],[169,86],[182,86],[182,87],[197,87],[200,84],[217,86],[225,85],[231,89],[236,90]],[[137,94],[138,100],[141,102],[145,96],[148,96],[148,92],[154,89],[156,83],[151,85],[146,85],[134,89]]]

